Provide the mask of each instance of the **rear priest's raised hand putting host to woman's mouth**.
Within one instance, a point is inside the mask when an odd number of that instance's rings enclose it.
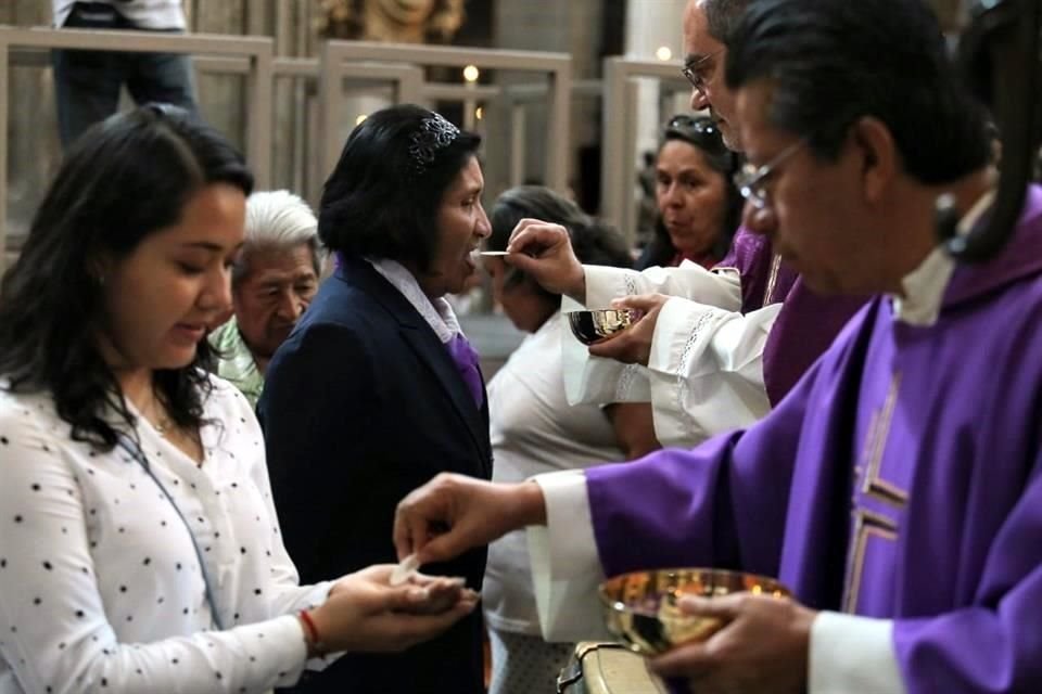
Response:
[[[522,219],[510,233],[507,252],[504,260],[531,274],[547,292],[586,303],[586,271],[564,227]]]

